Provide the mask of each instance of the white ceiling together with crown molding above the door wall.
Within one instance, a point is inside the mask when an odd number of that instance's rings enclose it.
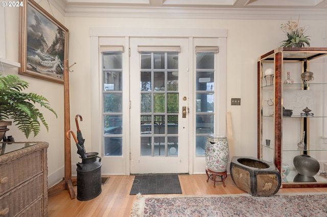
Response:
[[[41,0],[42,1],[42,0]],[[327,0],[48,0],[66,17],[327,19]]]

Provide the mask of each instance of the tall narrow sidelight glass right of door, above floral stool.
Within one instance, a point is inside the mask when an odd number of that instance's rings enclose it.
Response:
[[[206,136],[214,133],[215,53],[196,54],[196,155],[204,156]]]

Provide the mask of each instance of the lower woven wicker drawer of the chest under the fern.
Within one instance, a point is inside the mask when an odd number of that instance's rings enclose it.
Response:
[[[42,197],[43,174],[40,173],[26,183],[16,187],[13,191],[0,197],[0,211],[9,208],[9,212],[5,216],[15,216],[19,212],[24,213],[25,211],[30,213],[28,210],[31,209],[31,211],[33,211],[36,209],[36,206],[42,211],[42,202],[40,204],[36,203],[37,201],[41,201],[43,199]],[[33,205],[31,205],[32,203]],[[38,211],[38,213],[39,212],[40,211]],[[33,214],[30,216],[38,215]]]

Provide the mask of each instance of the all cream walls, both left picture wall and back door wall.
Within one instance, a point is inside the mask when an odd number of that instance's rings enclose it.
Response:
[[[51,13],[48,3],[40,3]],[[91,151],[91,106],[90,98],[90,37],[91,27],[111,28],[205,28],[227,29],[227,108],[231,112],[232,128],[235,143],[235,155],[256,156],[257,114],[256,114],[256,64],[257,58],[279,46],[285,39],[279,29],[287,20],[207,20],[207,19],[143,19],[143,18],[82,18],[66,17],[56,12],[54,16],[69,30],[69,65],[77,64],[69,73],[71,128],[76,130],[75,115],[81,114],[83,121],[80,128],[86,139],[85,148]],[[7,59],[18,60],[18,9],[6,8]],[[301,20],[301,25],[310,25],[308,35],[312,47],[324,46],[327,31],[326,21]],[[17,73],[17,70],[13,70]],[[43,130],[37,138],[29,141],[48,141],[49,185],[60,181],[63,176],[63,86],[39,79],[21,76],[30,82],[30,92],[44,95],[58,113],[58,119],[52,114],[44,114],[49,121],[50,132]],[[230,98],[241,98],[241,106],[231,106]],[[15,139],[25,140],[18,136],[11,127]],[[76,146],[72,145],[72,162],[77,162]],[[60,171],[61,174],[56,173]],[[74,170],[74,169],[73,169]]]

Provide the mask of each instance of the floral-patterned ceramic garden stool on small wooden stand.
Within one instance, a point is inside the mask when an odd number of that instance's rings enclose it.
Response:
[[[229,159],[227,138],[223,135],[207,135],[205,142],[205,162],[209,170],[225,172]]]

